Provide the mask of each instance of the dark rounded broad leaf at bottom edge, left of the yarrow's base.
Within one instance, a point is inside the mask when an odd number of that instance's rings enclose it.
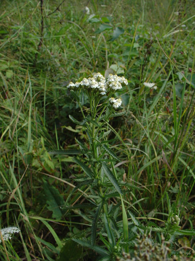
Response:
[[[82,247],[73,240],[68,240],[59,253],[58,261],[79,261],[82,255]]]

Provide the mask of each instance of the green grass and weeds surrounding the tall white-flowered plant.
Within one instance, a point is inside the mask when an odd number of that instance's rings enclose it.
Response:
[[[142,224],[163,226],[167,192],[182,229],[193,229],[194,0],[2,0],[0,9],[0,227],[21,230],[0,244],[0,259],[94,260],[92,250],[65,244],[90,227],[85,210],[60,208],[81,170],[48,151],[84,139],[68,117],[80,114],[65,87],[98,71],[129,82],[118,93],[126,113],[109,123],[117,172],[142,189],[130,190],[126,209]],[[71,205],[83,202],[82,191]],[[175,240],[175,250],[184,248],[195,249],[193,237]]]

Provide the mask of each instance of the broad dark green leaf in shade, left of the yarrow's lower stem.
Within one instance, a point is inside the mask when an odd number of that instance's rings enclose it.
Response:
[[[53,212],[52,218],[60,220],[63,215],[63,210],[60,208],[64,205],[63,196],[59,194],[58,189],[56,189],[46,181],[44,181],[43,189],[45,197],[47,199],[47,208]]]

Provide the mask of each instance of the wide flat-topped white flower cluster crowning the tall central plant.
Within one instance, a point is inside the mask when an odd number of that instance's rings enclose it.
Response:
[[[119,77],[116,74],[109,74],[108,79],[103,77],[101,73],[95,74],[92,78],[83,78],[83,80],[75,84],[70,82],[67,88],[78,88],[78,87],[86,87],[86,88],[92,88],[97,89],[100,91],[100,94],[105,95],[108,87],[110,87],[113,90],[119,90],[122,88],[122,85],[128,85],[127,79],[124,77]]]

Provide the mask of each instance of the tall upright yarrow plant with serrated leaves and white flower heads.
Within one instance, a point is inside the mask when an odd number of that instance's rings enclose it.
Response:
[[[76,238],[74,240],[106,255],[107,260],[113,260],[113,257],[121,252],[122,249],[118,245],[121,239],[123,249],[128,252],[128,222],[122,198],[124,193],[122,187],[125,186],[125,182],[122,181],[122,174],[119,175],[116,172],[115,163],[120,159],[111,149],[110,144],[116,139],[108,139],[111,131],[107,124],[111,117],[121,116],[125,113],[125,111],[115,111],[122,109],[122,101],[114,96],[116,91],[118,92],[126,85],[128,85],[128,81],[124,77],[110,74],[105,79],[99,72],[88,79],[83,78],[80,82],[70,82],[67,89],[76,99],[83,119],[78,121],[72,115],[69,115],[69,118],[76,125],[83,127],[87,144],[76,139],[79,150],[50,152],[51,154],[75,155],[73,161],[80,166],[83,173],[76,175],[75,180],[78,185],[68,196],[64,208],[82,210],[88,207],[94,209],[90,241]],[[92,193],[92,195],[85,195],[88,203],[69,206],[69,198],[83,185],[89,186]],[[116,223],[116,210],[119,210],[120,204],[117,205],[117,209],[108,204],[108,200],[114,196],[120,199],[122,206],[122,230],[118,230]],[[89,219],[87,220],[89,221]],[[98,230],[101,230],[99,239],[105,244],[107,250],[105,247],[97,249],[95,246]],[[102,233],[106,233],[108,241],[102,236]]]

